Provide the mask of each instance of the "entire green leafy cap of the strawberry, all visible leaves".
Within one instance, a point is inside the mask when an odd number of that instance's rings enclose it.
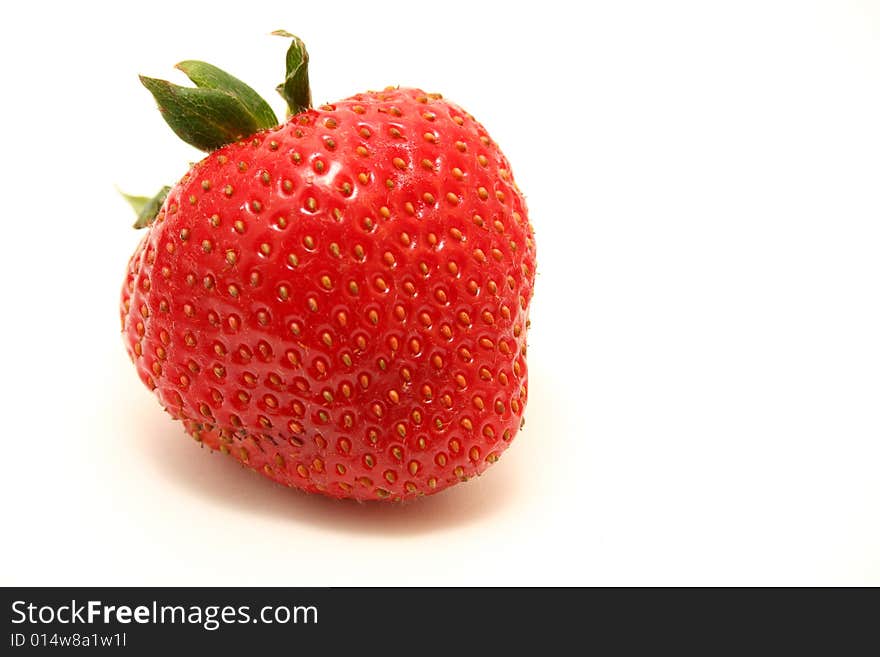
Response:
[[[276,91],[287,102],[287,116],[311,108],[309,54],[302,40],[285,30],[272,32],[291,40],[287,49],[284,81]],[[260,94],[250,86],[207,62],[186,60],[175,68],[195,87],[141,75],[141,84],[153,95],[168,126],[183,141],[211,152],[261,130],[278,125],[278,117]],[[137,214],[135,228],[146,228],[156,218],[170,187],[153,197],[122,194]]]

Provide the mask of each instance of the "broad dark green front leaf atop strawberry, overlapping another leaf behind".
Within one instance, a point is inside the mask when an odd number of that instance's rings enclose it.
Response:
[[[241,100],[226,92],[181,87],[143,75],[140,79],[175,134],[200,150],[216,150],[261,129]]]

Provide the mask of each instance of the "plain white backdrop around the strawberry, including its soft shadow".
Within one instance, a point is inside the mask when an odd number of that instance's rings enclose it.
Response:
[[[880,584],[880,3],[137,7],[2,10],[0,583]],[[280,110],[282,27],[317,102],[440,91],[528,197],[526,428],[433,498],[200,451],[124,353],[114,185],[200,157],[136,74]]]

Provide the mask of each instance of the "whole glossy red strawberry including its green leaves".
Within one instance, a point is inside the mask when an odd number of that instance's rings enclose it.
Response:
[[[142,78],[208,151],[132,199],[122,289],[143,382],[202,445],[287,486],[404,499],[483,472],[520,428],[535,247],[504,155],[438,94],[310,107],[292,39],[277,125],[202,62]]]

